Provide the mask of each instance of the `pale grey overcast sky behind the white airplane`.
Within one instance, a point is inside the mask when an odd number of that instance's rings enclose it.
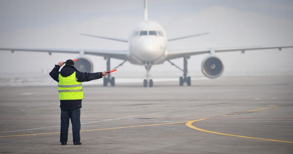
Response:
[[[210,32],[205,36],[172,41],[167,50],[210,47],[293,45],[292,0],[149,0],[149,20],[158,22],[168,38]],[[96,34],[127,39],[143,20],[143,0],[1,0],[0,47],[127,49],[127,43],[81,36]],[[217,54],[228,71],[293,70],[293,49]],[[199,71],[207,55],[193,56],[189,71]],[[0,51],[1,72],[41,72],[77,54]],[[103,57],[88,56],[94,71],[105,71]],[[112,68],[121,60],[111,60]],[[180,67],[183,59],[173,60]],[[133,68],[131,68],[133,67]],[[166,62],[151,71],[176,67]],[[119,71],[144,71],[125,63]],[[224,72],[225,73],[225,72]]]

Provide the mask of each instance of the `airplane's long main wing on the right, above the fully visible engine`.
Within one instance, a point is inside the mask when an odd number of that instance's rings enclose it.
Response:
[[[247,50],[264,50],[264,49],[279,49],[282,48],[293,48],[293,46],[283,46],[283,47],[244,47],[244,48],[211,48],[206,50],[193,50],[193,51],[168,51],[167,60],[181,58],[181,57],[188,57],[192,55],[200,55],[200,54],[208,54],[208,53],[218,53],[218,52],[229,52],[229,51],[241,51],[244,53]]]

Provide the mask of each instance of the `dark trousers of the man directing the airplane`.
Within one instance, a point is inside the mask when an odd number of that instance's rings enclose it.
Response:
[[[80,109],[61,110],[60,143],[67,143],[69,118],[72,124],[73,143],[80,142]]]

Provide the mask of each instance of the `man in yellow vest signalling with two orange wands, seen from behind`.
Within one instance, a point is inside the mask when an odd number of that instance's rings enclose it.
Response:
[[[80,145],[80,108],[81,100],[84,98],[82,82],[101,79],[107,73],[105,71],[97,73],[80,72],[74,67],[74,62],[71,59],[66,60],[65,66],[59,72],[63,65],[64,62],[59,62],[49,73],[58,82],[61,109],[60,143],[61,145],[67,144],[70,118],[73,144]]]

